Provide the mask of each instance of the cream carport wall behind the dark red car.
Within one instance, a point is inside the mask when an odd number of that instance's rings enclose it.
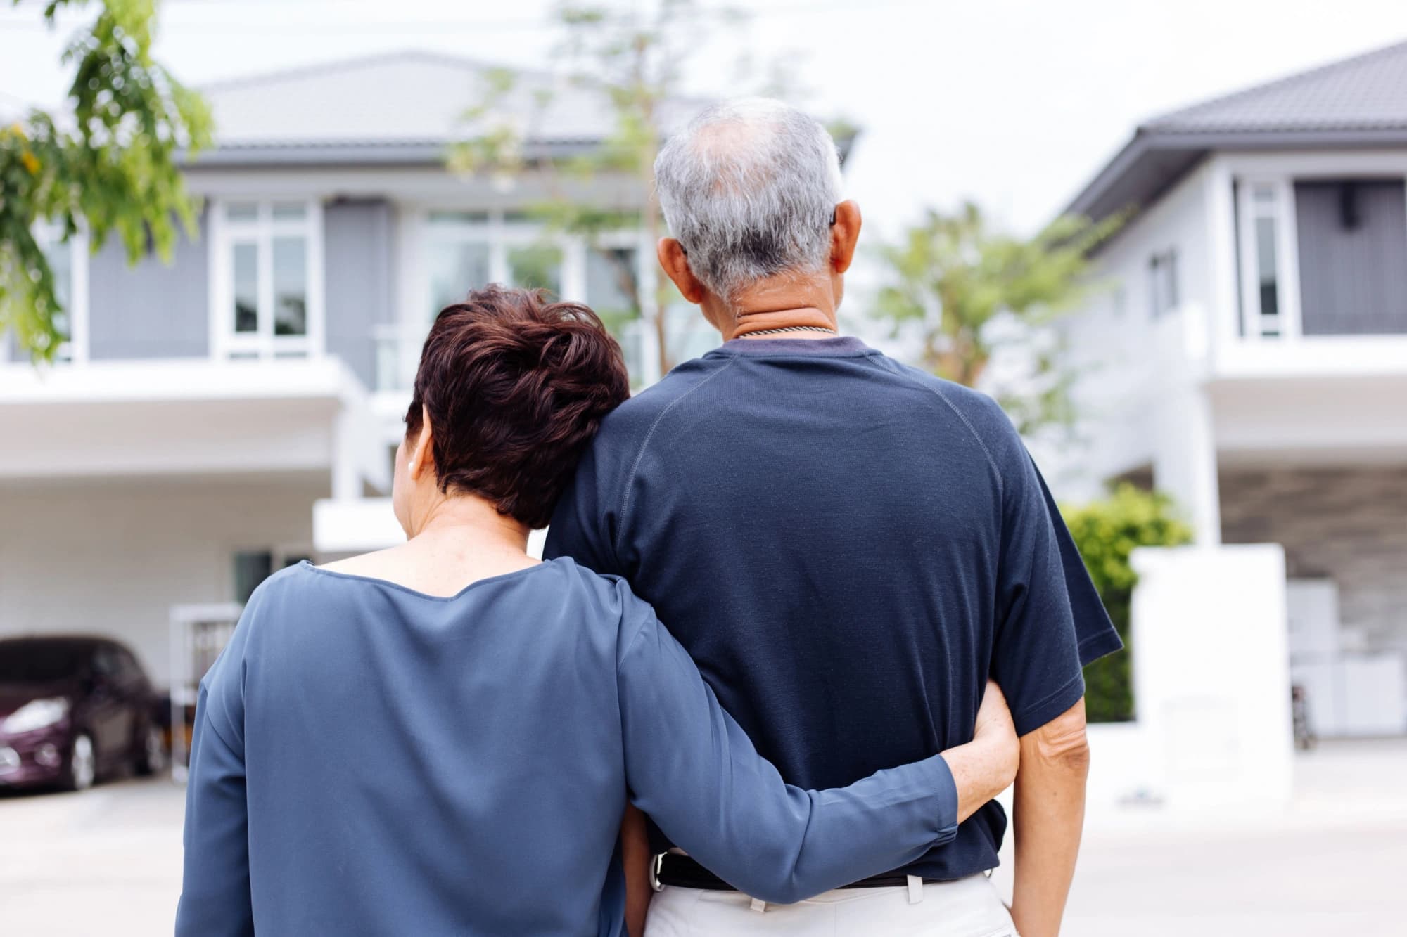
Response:
[[[326,473],[0,487],[0,636],[113,635],[158,687],[174,604],[234,598],[236,550],[307,549]]]

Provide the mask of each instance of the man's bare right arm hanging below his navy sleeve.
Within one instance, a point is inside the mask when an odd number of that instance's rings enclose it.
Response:
[[[1089,741],[1083,698],[1020,739],[1012,919],[1021,937],[1055,937],[1085,823]]]

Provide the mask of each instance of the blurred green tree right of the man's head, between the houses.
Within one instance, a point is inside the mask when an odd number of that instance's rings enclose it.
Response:
[[[992,231],[972,203],[953,215],[930,208],[898,243],[881,245],[889,283],[875,315],[896,335],[916,328],[923,367],[968,387],[982,383],[1023,433],[1068,426],[1074,376],[1047,326],[1086,295],[1089,252],[1120,224],[1062,217],[1021,239]],[[993,355],[1007,348],[1019,373],[991,377]]]

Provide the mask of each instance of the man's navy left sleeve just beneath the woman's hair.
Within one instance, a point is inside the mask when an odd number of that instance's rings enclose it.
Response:
[[[623,575],[615,552],[618,473],[602,452],[605,445],[598,436],[577,463],[575,474],[553,511],[543,559],[566,556],[595,573]]]

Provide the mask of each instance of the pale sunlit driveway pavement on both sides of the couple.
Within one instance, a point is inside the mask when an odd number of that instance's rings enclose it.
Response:
[[[1131,812],[1092,823],[1064,934],[1403,934],[1407,740],[1300,756],[1296,791],[1273,817]],[[170,933],[182,805],[169,781],[0,796],[0,933]]]

